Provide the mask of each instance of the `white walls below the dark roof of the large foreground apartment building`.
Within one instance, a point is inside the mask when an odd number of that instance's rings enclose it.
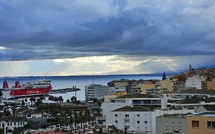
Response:
[[[135,106],[134,106],[135,107]],[[131,107],[132,109],[132,107]],[[155,110],[155,111],[109,111],[106,117],[106,128],[114,125],[117,129],[135,134],[156,134],[156,117],[164,114],[194,113],[194,110]]]

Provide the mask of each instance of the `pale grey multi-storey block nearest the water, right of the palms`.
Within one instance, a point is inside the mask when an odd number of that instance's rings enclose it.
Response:
[[[109,87],[107,85],[91,84],[85,86],[85,98],[88,99],[103,99],[105,95],[110,94]]]

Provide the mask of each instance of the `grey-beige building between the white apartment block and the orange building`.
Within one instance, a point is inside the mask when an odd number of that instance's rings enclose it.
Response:
[[[156,117],[156,134],[186,134],[188,114],[164,114]]]

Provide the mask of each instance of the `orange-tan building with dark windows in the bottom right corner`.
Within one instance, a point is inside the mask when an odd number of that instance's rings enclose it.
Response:
[[[215,112],[204,112],[187,116],[187,134],[214,134]]]

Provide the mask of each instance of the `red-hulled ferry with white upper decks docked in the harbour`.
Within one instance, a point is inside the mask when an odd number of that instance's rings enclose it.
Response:
[[[25,97],[47,94],[52,86],[50,80],[37,80],[36,82],[26,82],[22,86],[19,81],[16,81],[15,87],[9,88],[7,81],[4,81],[3,89],[10,91],[11,97]]]

